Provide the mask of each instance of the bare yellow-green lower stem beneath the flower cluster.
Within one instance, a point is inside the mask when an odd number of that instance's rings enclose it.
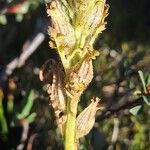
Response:
[[[75,125],[77,114],[77,103],[73,106],[73,112],[71,110],[71,100],[67,102],[67,121],[65,125],[65,150],[77,150],[75,143]]]

